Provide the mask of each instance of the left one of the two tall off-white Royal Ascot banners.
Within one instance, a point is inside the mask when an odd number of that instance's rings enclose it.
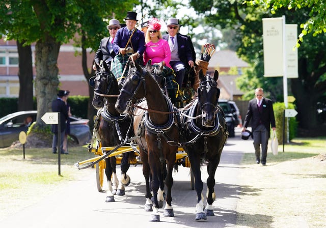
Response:
[[[263,18],[264,77],[283,76],[282,17]]]

